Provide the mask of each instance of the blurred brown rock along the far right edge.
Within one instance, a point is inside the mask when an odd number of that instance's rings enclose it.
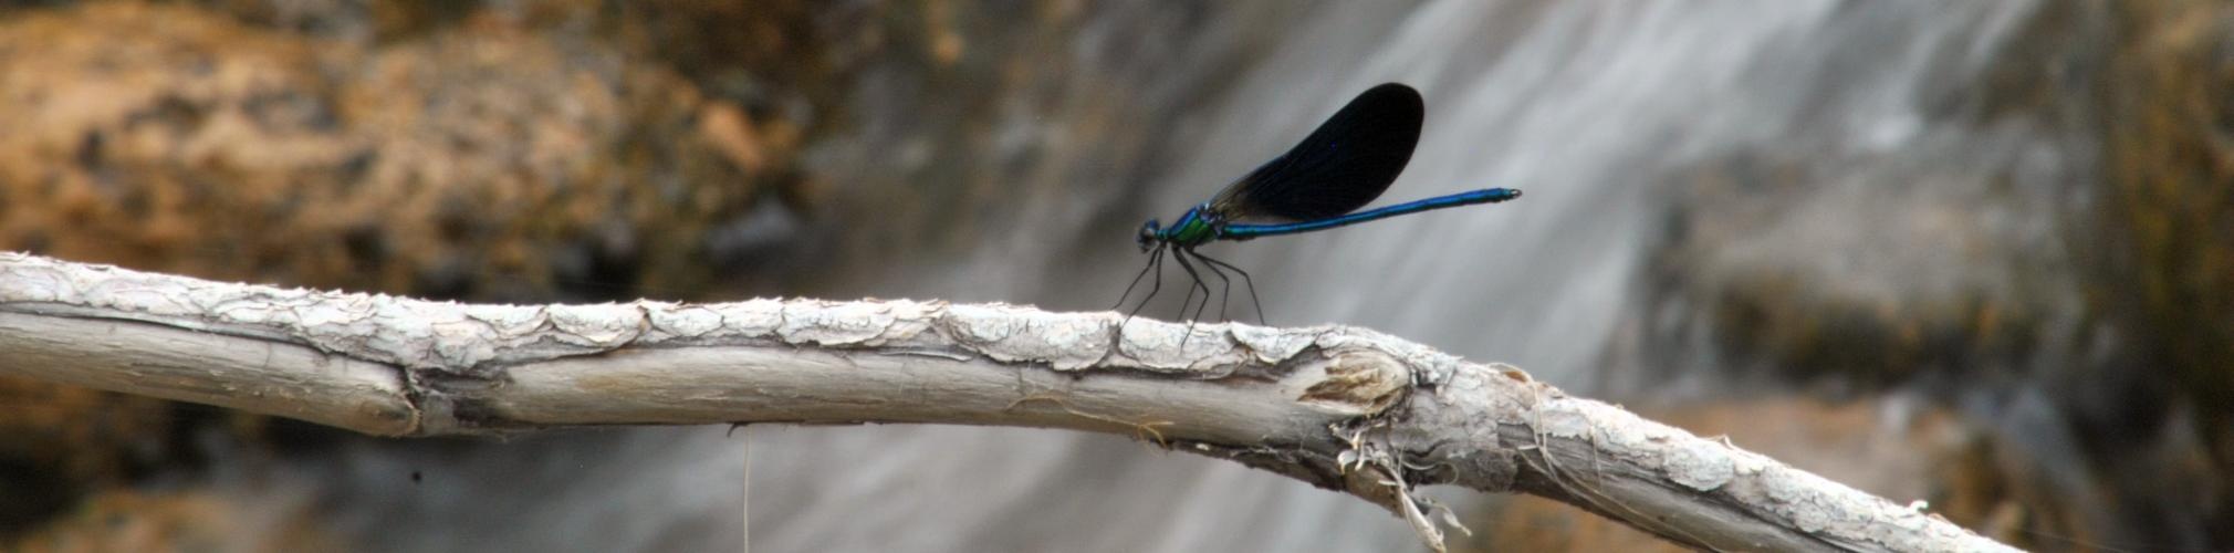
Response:
[[[2160,361],[2140,370],[2176,381],[2218,466],[2234,466],[2234,7],[2118,7],[2095,301],[2133,317]]]

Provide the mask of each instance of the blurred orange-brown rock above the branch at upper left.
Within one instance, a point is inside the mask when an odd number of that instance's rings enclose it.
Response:
[[[378,47],[176,4],[4,25],[0,120],[29,125],[0,136],[0,245],[65,259],[436,299],[695,297],[755,274],[722,230],[800,181],[789,123],[494,16]]]

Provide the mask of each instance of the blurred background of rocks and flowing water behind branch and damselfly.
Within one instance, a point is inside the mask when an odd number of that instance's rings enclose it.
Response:
[[[2024,549],[2234,549],[2230,2],[0,2],[0,248],[1106,310],[1139,221],[1390,80],[1430,116],[1383,203],[1528,196],[1206,248],[1271,323],[1517,363]],[[1466,551],[1655,546],[1441,497]],[[1106,435],[371,439],[0,379],[7,551],[742,551],[746,508],[753,551],[1423,551]]]

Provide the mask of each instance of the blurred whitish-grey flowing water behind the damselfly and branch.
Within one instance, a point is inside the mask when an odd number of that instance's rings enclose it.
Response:
[[[1287,149],[1356,91],[1396,80],[1423,91],[1430,116],[1410,169],[1383,203],[1474,187],[1519,187],[1526,198],[1204,252],[1256,274],[1276,326],[1367,326],[1593,392],[1615,379],[1602,375],[1606,359],[1653,355],[1622,352],[1633,343],[1620,337],[1644,317],[1640,281],[1673,198],[1700,165],[1756,149],[1825,163],[1919,147],[1959,156],[1970,143],[1948,138],[1928,103],[1986,71],[2033,9],[1450,0],[1173,16],[1166,7],[1108,4],[1086,16],[1077,45],[1050,58],[1137,78],[1117,114],[1146,116],[1106,123],[1092,136],[1066,134],[1063,118],[1079,111],[994,116],[994,134],[1028,161],[987,181],[1066,183],[1016,185],[999,210],[956,214],[949,223],[976,225],[978,245],[918,263],[925,270],[873,276],[862,294],[1101,310],[1144,261],[1130,243],[1137,221],[1177,216]],[[1168,42],[1173,20],[1186,22],[1186,47]],[[822,163],[840,187],[903,163],[938,163],[920,152],[907,161],[914,149],[898,134],[938,120],[905,120],[896,103],[914,91],[891,89],[900,80],[871,76],[867,83],[885,87],[858,94],[858,145],[836,147]],[[1106,136],[1126,140],[1097,140]],[[1128,143],[1133,149],[1121,149]],[[1113,167],[1119,163],[1126,167]],[[1834,212],[1816,225],[1870,221]],[[1419,549],[1403,522],[1358,499],[1119,437],[923,426],[739,435],[751,437],[755,551]],[[413,457],[366,468],[393,475],[447,464],[447,479],[552,488],[512,504],[512,515],[491,515],[505,524],[429,542],[375,540],[583,551],[722,549],[737,540],[724,524],[739,517],[731,493],[742,486],[746,448],[724,428],[570,439],[610,448],[561,453],[538,437],[518,446],[521,457],[536,457],[525,466]],[[545,466],[592,482],[534,477]],[[460,486],[471,495],[474,484]],[[366,497],[409,493],[360,488]],[[371,515],[360,528],[416,520]]]

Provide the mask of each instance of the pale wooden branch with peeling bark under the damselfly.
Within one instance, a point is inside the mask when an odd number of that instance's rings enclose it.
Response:
[[[0,375],[369,435],[1041,426],[1343,491],[1434,549],[1421,484],[1535,493],[1698,549],[2008,551],[1510,366],[1358,328],[1121,321],[943,301],[465,305],[0,252]]]

